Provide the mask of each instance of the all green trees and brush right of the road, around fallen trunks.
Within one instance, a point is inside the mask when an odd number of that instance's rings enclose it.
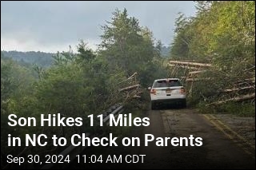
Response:
[[[193,89],[190,103],[210,103],[255,93],[254,89],[229,94],[222,92],[223,89],[241,88],[234,84],[255,77],[255,2],[203,1],[196,2],[196,8],[196,16],[186,18],[180,14],[177,18],[170,51],[170,57],[174,59],[213,65],[209,72],[200,73],[198,78],[214,79],[190,83]]]

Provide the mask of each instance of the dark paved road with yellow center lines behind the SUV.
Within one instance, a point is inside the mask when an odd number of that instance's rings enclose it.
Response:
[[[194,113],[191,109],[150,110],[150,126],[134,127],[130,137],[138,136],[141,146],[111,148],[109,154],[146,155],[142,164],[94,164],[88,168],[253,168],[255,169],[254,146],[235,137],[226,125],[214,121],[214,117]],[[226,127],[226,128],[224,128]],[[202,146],[156,146],[144,144],[145,134],[155,137],[202,137]]]

